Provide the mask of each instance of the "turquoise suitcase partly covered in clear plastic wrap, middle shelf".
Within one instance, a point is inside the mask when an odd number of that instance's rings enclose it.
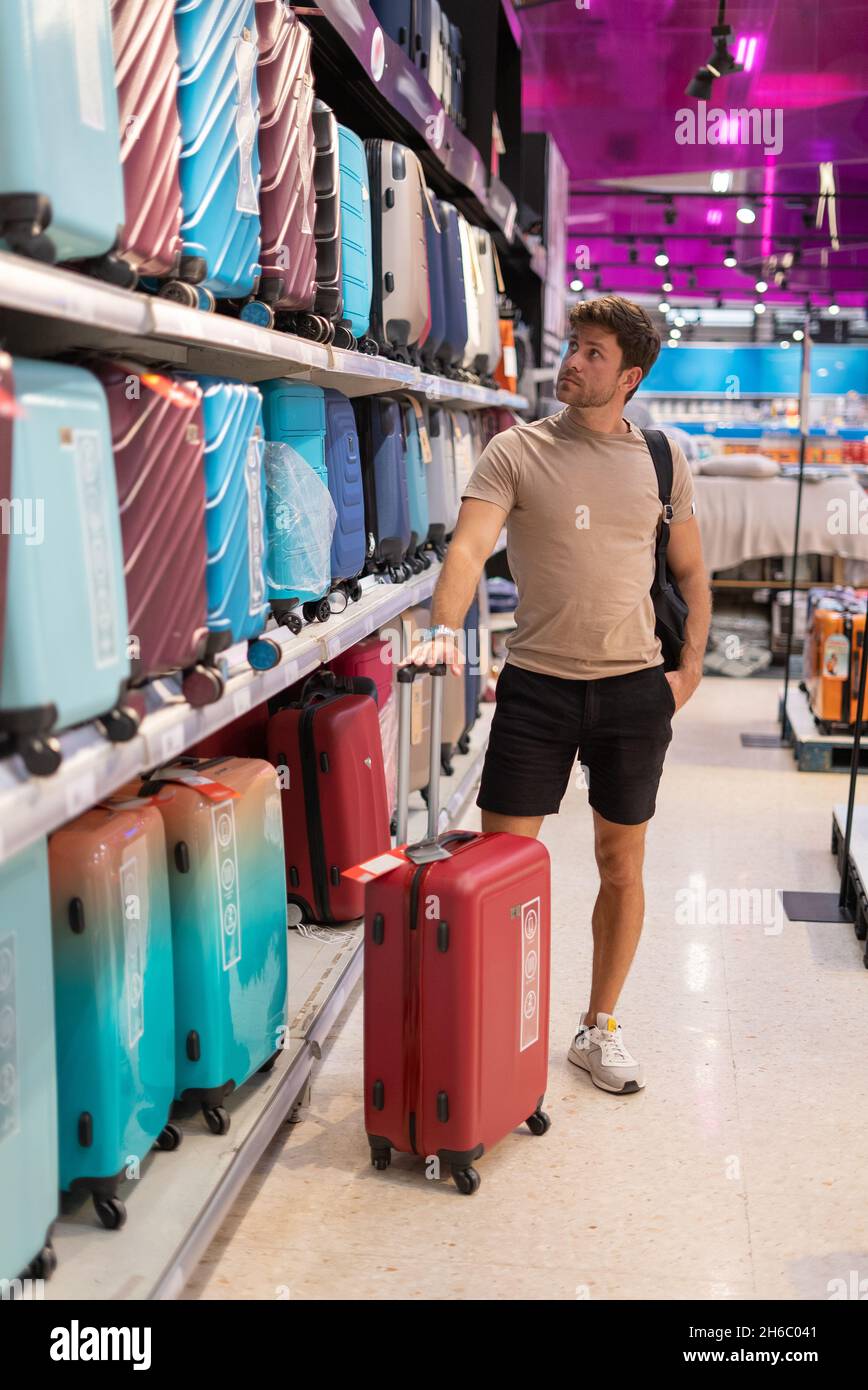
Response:
[[[287,443],[302,456],[328,488],[326,467],[326,395],[321,386],[294,381],[263,381],[263,420],[266,439]],[[292,631],[300,631],[302,620],[295,613],[300,603],[306,619],[321,621],[330,614],[328,584],[319,594],[299,585],[299,567],[307,567],[312,535],[307,520],[287,528],[287,499],[282,489],[282,470],[273,464],[266,450],[266,532],[268,537],[266,585],[271,612]],[[320,538],[316,538],[319,542]],[[331,539],[328,542],[331,545]]]

